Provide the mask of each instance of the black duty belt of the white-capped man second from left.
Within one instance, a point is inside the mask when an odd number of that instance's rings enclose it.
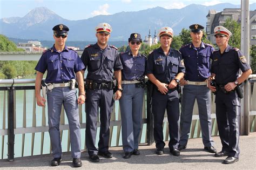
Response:
[[[112,89],[114,89],[115,85],[114,85],[113,81],[97,83],[97,82],[95,82],[93,80],[86,80],[84,87],[85,87],[85,89],[91,89],[91,90],[96,90],[96,89],[109,89],[109,90],[112,90]]]

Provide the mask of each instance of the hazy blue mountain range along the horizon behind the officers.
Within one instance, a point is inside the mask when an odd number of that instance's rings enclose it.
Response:
[[[255,10],[256,3],[250,5]],[[24,17],[2,18],[0,20],[0,33],[12,38],[53,40],[53,26],[62,23],[69,27],[69,40],[95,41],[95,27],[98,23],[106,22],[112,26],[111,40],[127,40],[132,32],[138,32],[143,39],[154,35],[162,26],[170,26],[174,35],[181,29],[194,23],[206,25],[208,10],[223,11],[225,8],[240,8],[240,5],[222,3],[212,6],[191,4],[181,9],[165,9],[161,7],[134,11],[119,12],[113,15],[99,15],[88,19],[70,21],[62,18],[48,8],[35,8]]]

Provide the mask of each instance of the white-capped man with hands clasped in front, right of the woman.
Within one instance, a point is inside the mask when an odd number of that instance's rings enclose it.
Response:
[[[171,154],[178,156],[179,134],[179,96],[177,85],[183,78],[185,67],[181,65],[181,54],[171,49],[173,30],[165,26],[159,30],[161,46],[150,53],[147,59],[146,75],[154,84],[152,93],[152,113],[156,154],[164,154],[163,119],[165,110],[169,121],[169,148]]]

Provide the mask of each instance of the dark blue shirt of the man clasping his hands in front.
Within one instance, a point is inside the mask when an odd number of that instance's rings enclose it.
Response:
[[[159,47],[147,58],[146,74],[154,74],[161,83],[169,84],[179,72],[185,73],[185,67],[181,64],[181,54],[177,50],[170,49],[165,56],[163,49]]]

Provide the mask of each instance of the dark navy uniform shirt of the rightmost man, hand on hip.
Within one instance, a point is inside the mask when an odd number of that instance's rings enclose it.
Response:
[[[220,50],[213,52],[211,72],[215,74],[218,85],[226,85],[237,80],[239,69],[242,72],[251,69],[239,49],[227,45],[223,54],[220,53]]]

